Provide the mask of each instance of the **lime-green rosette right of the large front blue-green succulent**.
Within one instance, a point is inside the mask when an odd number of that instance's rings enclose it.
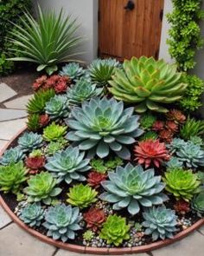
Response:
[[[196,174],[182,168],[169,170],[165,173],[163,181],[166,183],[166,190],[174,194],[176,200],[191,200],[194,194],[199,192],[199,186],[201,185],[201,181],[199,181]]]

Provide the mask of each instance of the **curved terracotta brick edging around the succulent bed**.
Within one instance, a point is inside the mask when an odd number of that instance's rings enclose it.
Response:
[[[0,156],[3,154],[3,152],[10,146],[12,141],[16,139],[26,128],[23,128],[17,135],[15,135],[10,142],[3,147],[3,149],[0,151]],[[9,214],[10,218],[22,229],[30,233],[31,235],[35,236],[37,239],[41,240],[42,242],[48,243],[51,246],[56,246],[64,250],[69,250],[75,253],[88,253],[88,254],[99,254],[99,255],[118,255],[118,254],[131,254],[131,253],[146,253],[153,250],[156,250],[158,248],[161,248],[163,246],[168,246],[178,240],[182,240],[186,236],[188,236],[189,233],[192,233],[194,230],[198,229],[202,225],[204,225],[204,219],[199,220],[194,225],[188,227],[186,230],[182,231],[181,233],[177,233],[175,237],[172,240],[163,240],[158,241],[155,243],[152,243],[150,245],[146,246],[137,246],[137,247],[127,247],[127,248],[95,248],[95,247],[86,247],[86,246],[77,246],[73,244],[68,243],[62,243],[61,241],[55,241],[51,238],[48,238],[47,236],[35,231],[34,229],[31,229],[29,226],[26,226],[22,220],[19,220],[15,213],[13,213],[10,210],[10,207],[5,203],[3,198],[0,196],[0,205],[3,207],[6,213]]]

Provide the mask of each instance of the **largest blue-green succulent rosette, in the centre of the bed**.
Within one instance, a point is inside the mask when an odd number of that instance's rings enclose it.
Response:
[[[104,158],[111,148],[121,158],[130,159],[130,151],[124,145],[134,143],[134,138],[143,134],[133,110],[124,109],[124,103],[113,98],[83,102],[82,108],[73,108],[73,117],[66,120],[74,130],[67,134],[67,140],[75,141],[80,150],[89,150],[92,156]]]

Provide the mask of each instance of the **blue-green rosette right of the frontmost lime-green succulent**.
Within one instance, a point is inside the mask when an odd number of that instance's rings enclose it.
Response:
[[[143,219],[145,234],[152,234],[153,241],[174,237],[173,233],[176,232],[177,225],[175,211],[166,207],[152,207],[143,213]]]

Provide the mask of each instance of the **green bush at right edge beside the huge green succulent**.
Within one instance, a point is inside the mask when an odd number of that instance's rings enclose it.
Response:
[[[185,95],[180,101],[181,108],[195,111],[201,107],[201,95],[204,92],[204,82],[196,75],[183,75],[183,82],[188,84]]]

